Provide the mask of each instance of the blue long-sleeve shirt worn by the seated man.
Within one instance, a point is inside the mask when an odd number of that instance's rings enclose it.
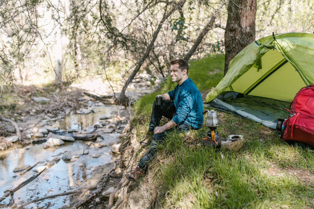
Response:
[[[194,128],[200,128],[203,124],[203,101],[193,81],[188,78],[168,94],[176,107],[176,116],[172,120],[176,124],[186,122]]]

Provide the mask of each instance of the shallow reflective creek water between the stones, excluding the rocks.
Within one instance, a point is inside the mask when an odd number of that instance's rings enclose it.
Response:
[[[127,111],[123,106],[105,105],[93,107],[94,113],[86,115],[76,114],[65,116],[64,119],[53,121],[47,126],[58,126],[60,129],[78,129],[84,130],[95,124],[110,124],[111,118]],[[101,120],[101,118],[103,120]],[[107,120],[107,121],[106,121]],[[119,122],[119,121],[118,121]],[[100,131],[100,137],[103,138],[103,144],[117,144],[120,142],[121,131],[126,125],[126,120],[121,120],[113,131]],[[97,129],[98,130],[98,129]],[[46,135],[43,137],[45,138]],[[95,142],[75,140],[74,142],[65,141],[64,145],[43,148],[42,144],[31,144],[26,147],[14,145],[7,150],[0,152],[0,196],[8,189],[13,189],[31,176],[37,174],[33,170],[42,165],[49,165],[48,169],[43,171],[35,180],[31,181],[18,191],[14,192],[14,201],[17,206],[37,198],[55,195],[67,191],[76,190],[77,187],[91,177],[91,173],[97,166],[104,165],[115,160],[112,156],[111,146],[101,148],[90,147]],[[62,160],[62,154],[66,151],[88,150],[88,154],[80,155],[74,162],[65,162]],[[93,158],[99,155],[97,158]],[[50,163],[53,159],[60,158],[55,163]],[[39,163],[35,168],[20,175],[20,172],[14,173],[13,170],[20,165],[33,166]],[[51,165],[52,164],[52,165]],[[5,208],[10,197],[7,197],[0,203],[0,208]],[[60,196],[53,199],[46,199],[37,203],[32,203],[25,208],[60,208],[69,203],[69,196]]]

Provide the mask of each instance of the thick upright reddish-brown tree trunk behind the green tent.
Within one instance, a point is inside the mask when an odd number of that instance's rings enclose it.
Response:
[[[225,71],[229,62],[255,40],[256,0],[230,0],[225,30]]]

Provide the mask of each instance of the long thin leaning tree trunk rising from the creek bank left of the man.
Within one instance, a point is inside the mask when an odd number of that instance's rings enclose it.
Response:
[[[145,59],[147,58],[149,52],[151,51],[152,47],[154,46],[154,42],[158,36],[158,33],[160,32],[160,29],[163,25],[163,23],[165,22],[165,20],[177,9],[183,6],[183,4],[185,3],[186,0],[180,0],[179,3],[171,9],[171,11],[169,13],[165,13],[163,15],[163,18],[160,20],[160,23],[158,24],[157,29],[154,32],[153,38],[149,43],[149,46],[146,49],[145,54],[141,57],[141,59],[138,61],[137,66],[135,67],[135,69],[133,70],[133,72],[131,73],[131,75],[129,76],[129,78],[127,79],[127,82],[124,84],[122,90],[121,90],[121,94],[119,96],[119,103],[127,103],[128,102],[128,98],[125,96],[125,91],[127,90],[127,86],[131,83],[131,81],[133,80],[133,78],[135,77],[136,73],[139,71],[139,69],[142,67]]]

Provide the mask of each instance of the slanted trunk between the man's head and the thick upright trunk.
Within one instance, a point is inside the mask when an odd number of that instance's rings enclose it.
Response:
[[[214,23],[216,18],[219,15],[219,11],[221,9],[223,4],[219,5],[219,8],[215,10],[215,13],[213,14],[213,16],[210,18],[209,22],[207,23],[207,25],[204,27],[204,29],[202,30],[202,32],[200,33],[200,35],[197,37],[196,41],[194,42],[193,46],[191,47],[190,51],[184,56],[184,59],[186,61],[188,61],[191,56],[193,55],[193,53],[196,51],[197,47],[199,46],[199,44],[201,43],[201,41],[203,40],[204,36],[208,33],[208,31],[210,29],[214,28]]]

